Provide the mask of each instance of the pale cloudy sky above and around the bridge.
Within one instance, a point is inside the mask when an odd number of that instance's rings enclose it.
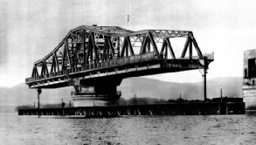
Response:
[[[193,31],[201,51],[214,52],[208,79],[242,77],[243,52],[256,49],[255,8],[253,0],[0,0],[0,86],[24,83],[33,63],[52,52],[70,30],[92,24]],[[197,82],[202,75],[195,70],[148,78]]]

